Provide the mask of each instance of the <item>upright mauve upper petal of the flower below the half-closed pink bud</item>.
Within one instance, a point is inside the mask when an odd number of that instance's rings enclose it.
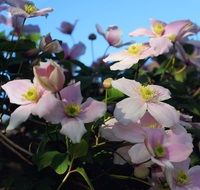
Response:
[[[60,94],[62,99],[66,100],[67,102],[74,102],[77,104],[81,104],[83,99],[81,95],[80,82],[77,82],[75,84],[63,88],[60,91]]]

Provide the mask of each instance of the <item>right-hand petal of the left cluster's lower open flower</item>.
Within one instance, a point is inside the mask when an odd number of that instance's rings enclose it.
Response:
[[[83,123],[90,123],[102,117],[106,112],[106,105],[104,102],[88,98],[85,103],[81,105],[81,113],[78,116]]]

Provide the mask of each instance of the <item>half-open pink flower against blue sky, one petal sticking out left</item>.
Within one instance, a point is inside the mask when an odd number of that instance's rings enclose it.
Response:
[[[102,35],[110,46],[118,47],[122,44],[122,31],[118,26],[109,26],[106,32],[96,24],[97,32]]]

